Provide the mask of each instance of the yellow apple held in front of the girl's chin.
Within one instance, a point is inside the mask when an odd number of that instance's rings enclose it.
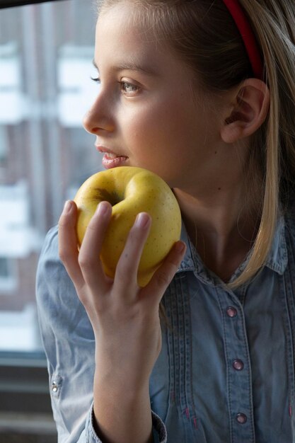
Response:
[[[129,230],[139,212],[151,216],[151,230],[141,255],[137,281],[144,287],[163,262],[175,241],[180,239],[181,214],[167,183],[143,168],[119,166],[101,171],[86,180],[76,193],[76,231],[79,245],[99,202],[112,205],[112,218],[100,251],[105,274],[114,277],[117,262]]]

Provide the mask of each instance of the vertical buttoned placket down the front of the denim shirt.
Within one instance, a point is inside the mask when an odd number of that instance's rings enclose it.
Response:
[[[216,287],[224,325],[231,443],[255,443],[250,353],[241,301],[230,289]]]

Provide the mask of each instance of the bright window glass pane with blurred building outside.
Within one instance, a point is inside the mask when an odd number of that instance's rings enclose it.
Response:
[[[101,168],[83,114],[91,81],[95,2],[0,11],[0,354],[42,352],[35,271],[64,200]]]

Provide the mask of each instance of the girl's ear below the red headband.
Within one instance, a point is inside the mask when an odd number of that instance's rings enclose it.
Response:
[[[237,142],[254,134],[265,122],[270,109],[270,91],[264,81],[246,79],[238,91],[231,91],[230,105],[221,125],[221,139]]]

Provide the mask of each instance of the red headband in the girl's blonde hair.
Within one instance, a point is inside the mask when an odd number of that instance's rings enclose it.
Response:
[[[245,45],[245,50],[248,53],[250,64],[253,69],[253,74],[257,79],[263,79],[263,65],[258,50],[257,40],[250,26],[245,12],[238,3],[238,0],[223,0],[226,8],[229,9],[233,20],[235,21],[238,30],[240,31],[241,37]]]

